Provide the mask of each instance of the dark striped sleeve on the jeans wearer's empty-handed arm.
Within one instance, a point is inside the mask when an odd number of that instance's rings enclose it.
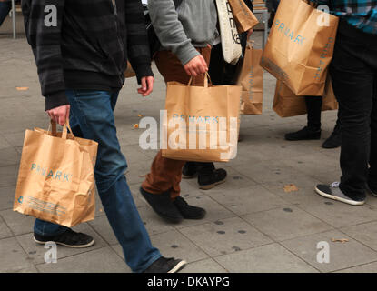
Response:
[[[140,0],[127,0],[124,3],[127,56],[140,84],[142,77],[154,75],[151,68],[151,54],[145,28],[143,4]]]

